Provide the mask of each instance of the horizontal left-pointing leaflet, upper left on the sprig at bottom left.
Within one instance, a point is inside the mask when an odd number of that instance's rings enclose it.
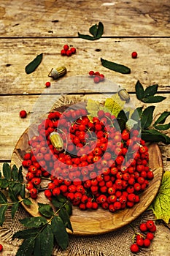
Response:
[[[40,227],[47,224],[47,219],[45,219],[45,217],[28,217],[20,219],[20,223],[25,227]]]

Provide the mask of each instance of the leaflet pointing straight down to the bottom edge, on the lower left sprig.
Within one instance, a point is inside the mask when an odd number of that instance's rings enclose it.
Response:
[[[39,234],[40,248],[42,256],[51,256],[53,252],[53,232],[51,225],[47,225],[44,230]]]

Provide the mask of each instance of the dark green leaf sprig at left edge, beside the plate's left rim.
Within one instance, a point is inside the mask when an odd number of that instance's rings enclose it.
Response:
[[[26,197],[26,187],[23,183],[23,173],[22,167],[19,169],[16,165],[10,168],[7,162],[4,163],[2,173],[0,172],[0,225],[2,226],[5,219],[5,213],[7,208],[11,206],[12,219],[15,217],[16,211],[18,211],[18,206],[21,202],[27,206],[31,205],[31,200]],[[2,177],[3,174],[3,177]],[[3,190],[8,192],[9,199],[7,200],[6,195],[4,195]],[[18,196],[22,199],[18,200]]]

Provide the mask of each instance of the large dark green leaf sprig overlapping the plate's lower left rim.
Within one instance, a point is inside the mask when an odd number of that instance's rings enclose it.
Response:
[[[50,256],[53,252],[54,242],[62,249],[69,244],[66,228],[72,230],[69,213],[72,206],[63,196],[53,197],[56,211],[48,204],[39,203],[39,213],[42,217],[28,217],[20,219],[26,230],[18,231],[12,239],[23,239],[16,256]],[[49,219],[47,219],[47,217]]]

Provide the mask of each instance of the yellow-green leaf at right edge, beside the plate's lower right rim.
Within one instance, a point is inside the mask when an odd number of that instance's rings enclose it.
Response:
[[[170,172],[166,171],[163,174],[161,187],[158,195],[152,202],[149,209],[152,209],[156,219],[163,219],[167,224],[170,219]]]

